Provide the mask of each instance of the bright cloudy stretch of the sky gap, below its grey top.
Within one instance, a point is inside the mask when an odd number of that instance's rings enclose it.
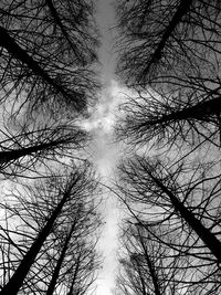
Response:
[[[81,123],[81,126],[93,134],[92,150],[93,160],[102,175],[106,186],[110,186],[114,169],[120,157],[120,145],[114,140],[114,125],[119,103],[122,102],[122,87],[112,81],[103,91],[96,109],[91,109],[91,117]],[[98,250],[103,253],[104,263],[96,281],[97,295],[110,295],[115,284],[117,267],[117,234],[119,212],[116,198],[105,190],[105,202],[101,207],[105,226],[98,243]]]

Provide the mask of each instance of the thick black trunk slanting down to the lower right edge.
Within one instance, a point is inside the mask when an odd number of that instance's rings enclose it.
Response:
[[[217,257],[218,262],[221,263],[221,242],[217,239],[217,236],[210,232],[198,219],[196,219],[194,214],[191,213],[182,202],[178,200],[178,198],[171,192],[165,185],[154,177],[151,172],[148,172],[150,178],[155,181],[155,183],[165,192],[175,210],[180,213],[180,215],[185,219],[185,221],[194,230],[194,232],[199,235],[199,238],[204,242],[204,244],[210,249],[212,254]]]

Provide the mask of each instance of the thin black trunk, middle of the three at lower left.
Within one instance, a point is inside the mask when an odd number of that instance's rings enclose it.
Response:
[[[60,274],[60,270],[62,267],[62,263],[64,261],[64,257],[65,257],[65,254],[66,254],[66,250],[69,249],[69,242],[70,242],[70,240],[72,238],[74,229],[75,229],[75,222],[72,225],[72,229],[71,229],[69,235],[65,239],[65,242],[64,242],[64,245],[63,245],[63,249],[62,249],[62,253],[61,253],[61,255],[59,257],[59,261],[56,263],[55,270],[53,272],[52,280],[51,280],[49,288],[46,291],[46,295],[53,295],[53,293],[54,293],[54,289],[55,289],[55,286],[56,286],[56,281],[57,281],[57,277],[59,277],[59,274]]]

